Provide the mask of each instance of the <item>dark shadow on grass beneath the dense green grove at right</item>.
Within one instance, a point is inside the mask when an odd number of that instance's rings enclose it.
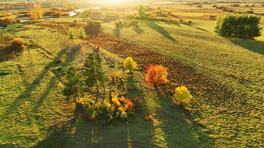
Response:
[[[232,43],[250,50],[252,52],[264,55],[264,41],[251,40],[251,39],[239,39],[239,38],[228,38]]]

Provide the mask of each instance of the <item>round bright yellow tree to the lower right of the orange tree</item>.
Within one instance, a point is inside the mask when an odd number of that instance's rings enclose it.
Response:
[[[182,87],[177,87],[175,89],[174,97],[176,101],[182,104],[182,103],[189,103],[193,96],[190,94],[190,92],[185,86],[182,86]]]

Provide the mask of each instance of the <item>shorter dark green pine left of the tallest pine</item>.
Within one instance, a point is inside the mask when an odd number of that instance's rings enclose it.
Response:
[[[81,89],[81,74],[78,74],[74,66],[70,66],[66,72],[66,83],[63,94],[67,96],[76,95],[80,101],[79,91]]]

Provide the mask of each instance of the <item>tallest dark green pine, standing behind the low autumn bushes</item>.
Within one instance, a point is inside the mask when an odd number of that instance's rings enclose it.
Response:
[[[97,93],[99,92],[99,85],[103,86],[105,92],[105,73],[101,66],[102,59],[98,53],[91,53],[88,55],[84,64],[85,83],[88,88],[96,86]]]

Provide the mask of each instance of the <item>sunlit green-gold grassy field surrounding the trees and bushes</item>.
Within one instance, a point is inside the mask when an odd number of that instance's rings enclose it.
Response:
[[[264,147],[264,37],[217,36],[215,21],[205,18],[223,13],[212,11],[211,5],[162,6],[172,8],[174,16],[192,24],[140,20],[135,28],[104,21],[102,33],[88,35],[83,44],[79,39],[71,43],[66,35],[74,19],[79,20],[74,28],[85,25],[82,17],[10,24],[0,31],[0,35],[22,37],[27,45],[22,55],[0,61],[0,147]],[[141,110],[127,121],[88,121],[61,93],[68,66],[82,70],[97,43],[106,74],[123,76],[135,88],[127,90],[126,96],[142,100]],[[146,84],[144,71],[132,76],[124,71],[126,56],[132,56],[143,69],[150,63],[168,67],[170,87],[185,85],[194,96],[192,110],[176,105],[161,88]],[[89,93],[81,99],[96,98]],[[149,114],[153,121],[144,120]],[[75,115],[79,116],[76,122],[48,129],[49,124]]]

